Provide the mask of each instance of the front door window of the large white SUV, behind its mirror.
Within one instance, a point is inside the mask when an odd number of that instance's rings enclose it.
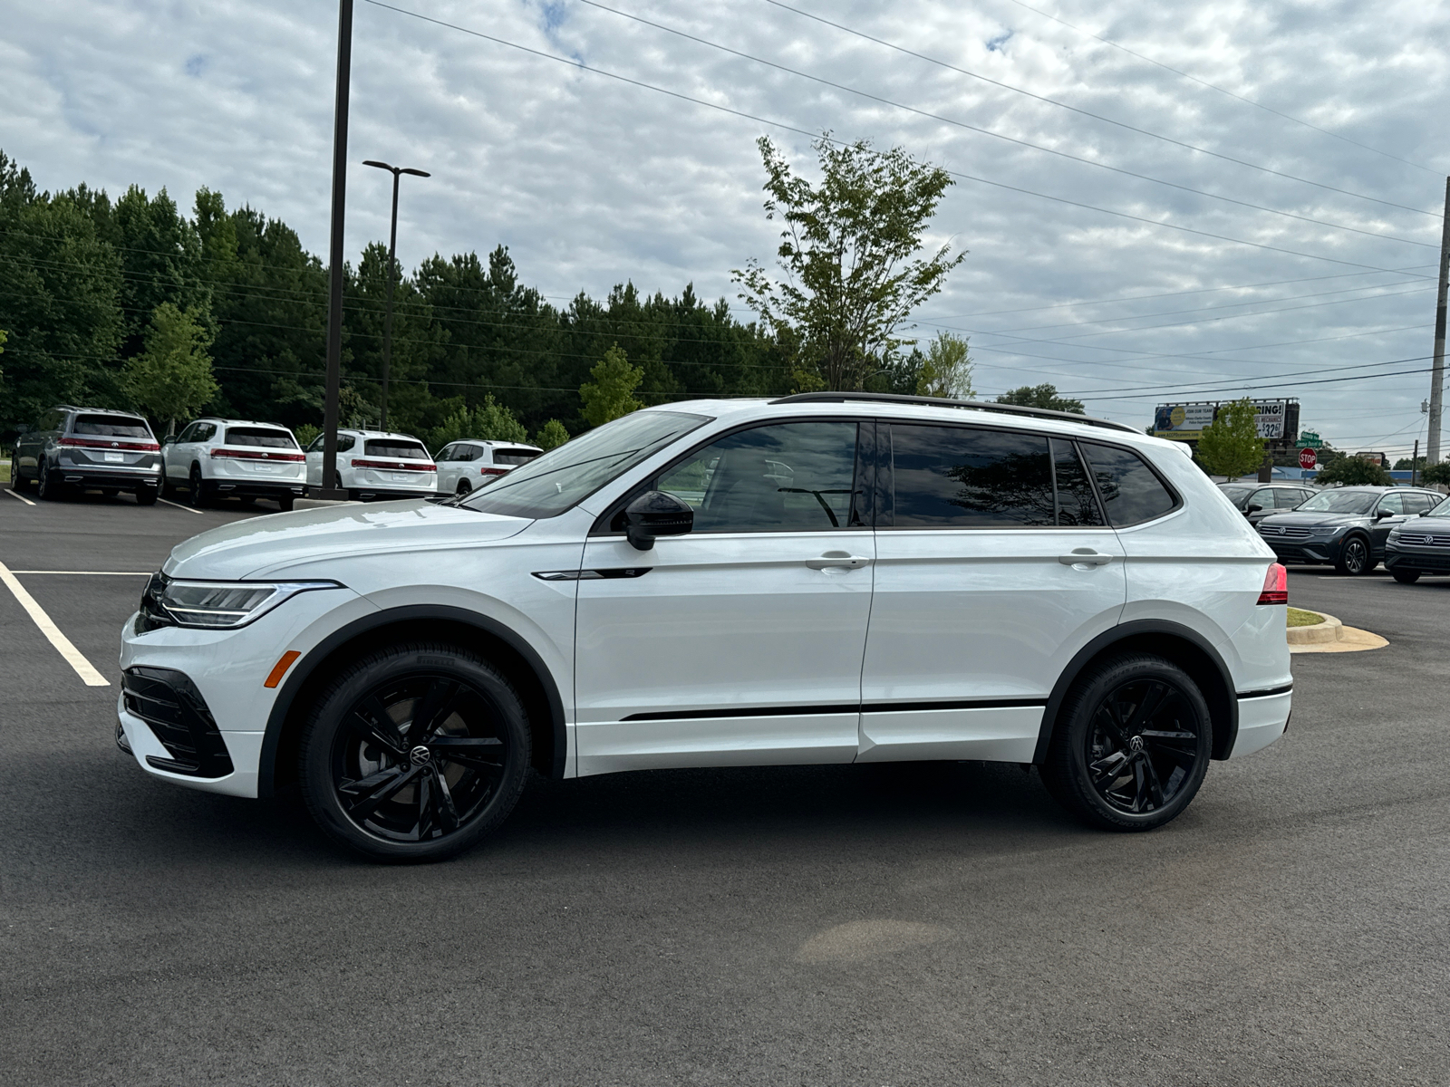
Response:
[[[776,423],[728,435],[660,474],[695,507],[696,532],[806,532],[858,525],[856,423]]]

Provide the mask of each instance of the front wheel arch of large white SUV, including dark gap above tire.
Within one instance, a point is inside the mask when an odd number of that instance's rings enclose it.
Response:
[[[529,715],[534,768],[552,778],[564,777],[568,738],[564,701],[538,651],[503,623],[463,607],[419,604],[393,607],[334,630],[290,670],[267,716],[257,794],[271,796],[277,786],[296,778],[296,757],[307,707],[331,675],[347,661],[374,646],[399,639],[457,641],[484,657],[509,665],[509,678],[523,696]]]

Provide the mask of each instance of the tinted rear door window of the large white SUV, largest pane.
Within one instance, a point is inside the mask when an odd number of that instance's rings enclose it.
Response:
[[[1047,438],[909,425],[890,435],[896,528],[1056,523]]]

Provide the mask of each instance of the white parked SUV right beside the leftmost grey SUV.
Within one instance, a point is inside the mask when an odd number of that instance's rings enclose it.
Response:
[[[186,488],[188,501],[271,499],[283,512],[302,497],[306,464],[291,430],[280,423],[197,419],[161,446],[165,497]]]

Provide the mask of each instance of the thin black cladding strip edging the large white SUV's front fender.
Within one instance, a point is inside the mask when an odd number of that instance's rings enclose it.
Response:
[[[387,612],[378,612],[377,615],[355,619],[347,626],[342,626],[323,638],[307,652],[306,657],[293,665],[286,683],[283,683],[281,690],[277,693],[277,701],[273,703],[271,713],[267,716],[267,735],[262,738],[261,761],[257,767],[258,796],[265,797],[273,794],[277,768],[277,748],[281,744],[281,733],[287,723],[287,715],[291,712],[291,704],[297,699],[297,693],[312,677],[312,672],[316,671],[318,665],[325,661],[334,649],[344,642],[352,641],[358,635],[383,626],[392,626],[393,623],[418,622],[420,619],[445,620],[473,626],[484,633],[493,635],[523,658],[523,661],[534,670],[539,686],[544,688],[544,697],[548,701],[550,717],[552,719],[554,762],[550,767],[550,777],[554,780],[564,777],[564,761],[568,755],[568,733],[564,728],[564,700],[560,697],[558,684],[554,683],[554,677],[544,664],[544,658],[539,657],[538,651],[535,651],[532,645],[503,623],[496,619],[490,619],[489,616],[478,615],[477,612],[470,612],[463,607],[448,607],[445,604],[412,604],[407,607],[392,607]]]

